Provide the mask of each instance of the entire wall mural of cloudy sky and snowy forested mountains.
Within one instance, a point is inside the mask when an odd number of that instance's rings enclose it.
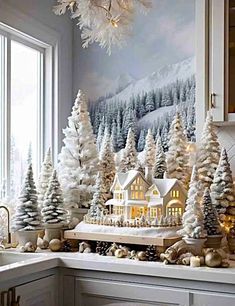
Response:
[[[142,151],[148,129],[166,151],[178,110],[189,141],[195,140],[195,0],[154,0],[137,15],[133,35],[107,56],[99,46],[79,52],[78,84],[89,98],[98,146],[105,128],[120,151],[129,128]]]

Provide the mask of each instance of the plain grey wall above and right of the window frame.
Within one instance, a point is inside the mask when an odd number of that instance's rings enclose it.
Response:
[[[71,112],[73,103],[73,24],[69,16],[56,16],[52,12],[54,0],[0,0],[0,21],[1,13],[5,8],[12,8],[16,12],[23,13],[27,19],[35,20],[37,25],[44,25],[58,33],[60,37],[59,59],[58,59],[58,133],[59,147],[62,142],[62,128],[67,124],[67,117]],[[29,23],[29,24],[30,24]],[[14,20],[8,20],[8,24],[14,24]],[[27,31],[27,29],[26,29]],[[30,34],[30,28],[28,28]]]

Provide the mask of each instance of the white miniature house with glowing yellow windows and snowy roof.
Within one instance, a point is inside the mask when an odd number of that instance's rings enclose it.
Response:
[[[147,180],[136,170],[117,173],[111,187],[113,198],[106,202],[111,215],[127,219],[177,216],[184,212],[186,190],[177,179]]]

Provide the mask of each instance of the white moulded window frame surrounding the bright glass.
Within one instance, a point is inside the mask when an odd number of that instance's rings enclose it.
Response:
[[[0,101],[1,107],[4,106],[3,116],[1,122],[3,121],[3,131],[2,139],[4,145],[0,148],[0,163],[1,163],[1,173],[0,173],[0,183],[1,183],[1,194],[0,198],[10,196],[10,139],[11,137],[11,40],[21,43],[27,47],[33,48],[40,52],[40,65],[41,75],[40,75],[40,88],[39,88],[39,130],[38,130],[38,152],[37,154],[37,165],[35,165],[37,172],[39,172],[41,162],[45,151],[50,146],[52,149],[53,156],[58,153],[58,45],[59,36],[56,32],[51,32],[50,29],[42,31],[40,27],[38,30],[35,24],[32,25],[31,30],[35,35],[29,35],[27,32],[22,32],[18,28],[10,26],[4,22],[4,18],[9,20],[9,17],[14,15],[17,24],[17,18],[19,16],[12,14],[6,10],[6,16],[1,16],[0,22],[0,35],[3,37],[3,48],[4,48],[4,95],[2,101]],[[12,18],[10,18],[12,20]],[[22,20],[18,24],[21,24],[21,28],[26,30],[29,28],[29,23],[25,22],[22,27]],[[43,40],[40,38],[43,37]],[[44,39],[45,38],[45,39]],[[2,89],[2,88],[1,88]]]

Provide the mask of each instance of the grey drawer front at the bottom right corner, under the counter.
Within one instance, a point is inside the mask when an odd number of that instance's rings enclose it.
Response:
[[[235,294],[193,293],[192,306],[234,306]]]

